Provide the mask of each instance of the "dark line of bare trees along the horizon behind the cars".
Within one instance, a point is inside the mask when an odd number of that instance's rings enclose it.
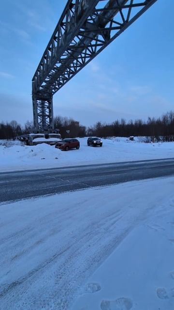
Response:
[[[92,127],[79,124],[73,118],[56,116],[54,126],[60,130],[62,138],[65,137],[147,137],[146,142],[174,141],[174,112],[170,111],[159,118],[148,117],[147,121],[141,119],[126,122],[124,119],[116,120],[111,124],[97,122]],[[15,139],[16,136],[29,134],[33,123],[27,121],[22,127],[16,121],[0,123],[0,139]],[[69,133],[67,131],[70,131]]]

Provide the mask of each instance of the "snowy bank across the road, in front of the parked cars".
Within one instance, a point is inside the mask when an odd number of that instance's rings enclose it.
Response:
[[[54,146],[39,144],[36,146],[19,145],[11,141],[10,147],[1,145],[0,171],[14,171],[37,168],[100,164],[109,162],[160,159],[174,157],[174,142],[143,143],[138,139],[103,139],[102,147],[88,147],[87,138],[80,138],[80,149],[68,152],[55,149]],[[14,144],[15,145],[14,145]]]

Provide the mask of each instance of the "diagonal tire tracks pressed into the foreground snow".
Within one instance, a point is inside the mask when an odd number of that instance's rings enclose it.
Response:
[[[49,253],[49,255],[52,255],[48,259],[43,260],[41,264],[36,263],[36,267],[31,268],[31,270],[22,275],[22,277],[16,277],[17,279],[15,279],[15,281],[7,283],[5,287],[4,284],[2,285],[1,298],[5,300],[9,307],[8,309],[20,309],[21,301],[17,296],[21,296],[23,300],[26,300],[23,305],[23,307],[25,306],[25,308],[23,308],[25,310],[38,310],[41,309],[41,307],[51,309],[51,305],[53,305],[53,309],[68,309],[66,307],[69,307],[73,301],[73,295],[79,289],[79,285],[82,285],[87,275],[89,273],[91,274],[112,250],[118,246],[134,227],[135,223],[138,222],[141,215],[141,210],[136,216],[131,217],[127,212],[128,210],[126,210],[127,208],[123,208],[122,210],[114,208],[113,210],[105,210],[101,214],[96,213],[95,216],[92,217],[86,210],[85,215],[89,218],[84,225],[84,214],[80,215],[80,209],[80,203],[74,205],[73,210],[69,208],[63,210],[63,208],[61,208],[61,214],[59,214],[58,217],[55,217],[55,212],[50,213],[49,216],[45,215],[41,217],[38,221],[38,226],[34,227],[34,232],[32,229],[29,229],[28,226],[27,233],[24,235],[21,234],[21,232],[25,232],[25,229],[19,231],[19,233],[9,235],[11,250],[13,249],[14,243],[14,250],[16,251],[16,239],[18,240],[21,238],[21,245],[23,246],[24,242],[26,241],[27,243],[29,238],[32,241],[34,234],[39,238],[46,224],[50,225],[52,222],[51,230],[53,226],[56,225],[56,219],[59,219],[61,223],[64,222],[62,231],[55,233],[58,244],[56,244],[56,240],[54,239],[54,249]],[[74,212],[77,213],[77,217],[79,217],[78,227],[74,227],[71,223],[73,221]],[[69,227],[69,225],[71,225],[71,227]],[[118,227],[121,227],[121,229],[118,230]],[[37,255],[40,253],[40,250],[42,252],[48,246],[49,242],[51,242],[50,230],[48,229],[47,237],[45,237],[43,243],[38,243],[36,246],[36,250],[38,250],[38,252],[36,252]],[[42,240],[42,238],[39,238],[39,240]],[[60,240],[61,242],[59,242]],[[44,242],[46,242],[45,248],[43,248]],[[62,244],[64,245],[64,250],[62,250]],[[14,260],[14,268],[16,264],[19,266],[20,263],[23,263],[22,259],[28,258],[29,253],[31,254],[33,251],[33,246],[34,243],[21,253],[21,257]],[[20,240],[18,240],[18,247],[20,248]],[[41,284],[39,289],[37,285],[38,279],[40,279],[40,283],[44,283]],[[46,288],[45,283],[47,285],[48,279],[52,279],[54,285],[49,294],[44,296],[43,301],[43,291]],[[42,285],[44,286],[43,290]],[[34,294],[34,296],[32,294],[31,298],[30,288],[33,287],[32,291],[35,291],[35,286],[37,287],[37,294]],[[58,292],[61,292],[59,296]],[[14,298],[14,295],[17,296]],[[40,308],[38,308],[37,305],[38,298],[40,300]],[[12,308],[14,299],[16,299],[16,306]],[[30,300],[30,304],[27,304],[27,300]]]

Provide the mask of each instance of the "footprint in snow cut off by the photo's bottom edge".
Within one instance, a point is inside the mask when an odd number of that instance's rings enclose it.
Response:
[[[121,297],[116,300],[102,300],[102,310],[130,310],[132,308],[132,301],[130,298]]]

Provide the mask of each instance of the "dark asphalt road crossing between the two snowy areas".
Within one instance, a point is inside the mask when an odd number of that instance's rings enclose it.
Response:
[[[0,173],[0,202],[174,175],[174,158]]]

